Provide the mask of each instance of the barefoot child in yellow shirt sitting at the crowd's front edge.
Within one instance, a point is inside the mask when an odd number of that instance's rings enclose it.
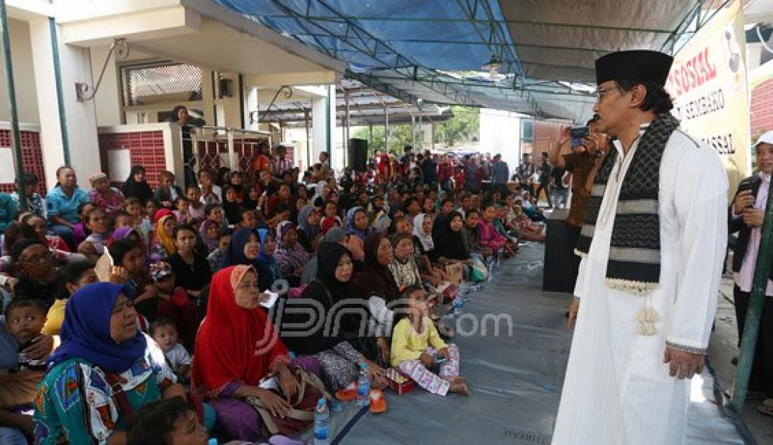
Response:
[[[459,349],[438,335],[427,315],[427,292],[412,286],[403,295],[408,301],[406,317],[392,332],[391,365],[433,394],[445,396],[450,391],[468,396],[467,382],[459,375]]]

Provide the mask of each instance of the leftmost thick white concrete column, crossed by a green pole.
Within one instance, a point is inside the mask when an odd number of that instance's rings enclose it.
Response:
[[[64,164],[64,153],[60,112],[56,107],[56,75],[48,20],[39,19],[29,22],[29,33],[38,92],[43,166],[46,171],[46,187],[50,190],[56,185],[56,169]],[[61,36],[62,33],[57,32],[64,114],[70,140],[70,164],[78,175],[78,184],[89,189],[88,175],[100,170],[97,114],[94,100],[78,101],[75,83],[85,82],[94,87],[90,53],[88,49],[65,45]],[[99,61],[99,63],[102,62],[104,60]],[[97,94],[99,93],[101,90]]]

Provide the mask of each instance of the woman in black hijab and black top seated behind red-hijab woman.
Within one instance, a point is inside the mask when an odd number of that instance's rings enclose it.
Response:
[[[319,267],[317,277],[303,290],[300,299],[287,301],[282,323],[295,325],[318,325],[318,329],[309,331],[290,331],[281,328],[281,338],[285,345],[297,355],[315,355],[325,386],[338,391],[349,386],[357,379],[359,367],[365,363],[374,388],[386,386],[383,369],[370,361],[352,347],[346,340],[344,331],[354,328],[355,318],[340,317],[345,305],[341,301],[354,294],[352,284],[352,257],[346,247],[339,243],[320,243],[317,253]],[[300,307],[308,306],[306,301],[314,300],[314,316]],[[351,306],[349,306],[351,308]],[[365,307],[361,307],[366,311]],[[293,309],[288,311],[288,309]],[[322,310],[320,314],[318,311]],[[319,322],[319,318],[324,321]],[[312,319],[309,319],[312,318]],[[311,322],[311,324],[309,324]]]

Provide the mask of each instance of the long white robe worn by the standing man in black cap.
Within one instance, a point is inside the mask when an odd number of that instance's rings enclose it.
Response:
[[[666,341],[707,348],[727,246],[727,175],[713,149],[674,131],[660,165],[659,287],[648,297],[608,287],[618,195],[641,134],[625,156],[614,141],[618,158],[581,261],[557,445],[684,441],[690,380],[669,376],[663,353]],[[656,335],[635,332],[636,312],[645,304],[659,314]]]

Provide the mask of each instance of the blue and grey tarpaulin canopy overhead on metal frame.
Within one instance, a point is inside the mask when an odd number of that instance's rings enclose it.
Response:
[[[401,100],[574,119],[591,112],[596,57],[674,52],[710,9],[703,0],[216,2],[346,62],[347,77]],[[489,76],[482,66],[492,59]]]

